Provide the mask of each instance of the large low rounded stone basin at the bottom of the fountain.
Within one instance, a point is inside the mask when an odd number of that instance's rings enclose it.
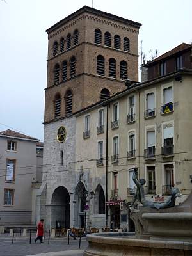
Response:
[[[192,243],[136,239],[134,232],[89,234],[84,256],[189,256]]]

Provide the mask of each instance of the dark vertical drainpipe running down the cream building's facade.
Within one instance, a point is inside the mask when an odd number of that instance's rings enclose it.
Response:
[[[109,106],[104,102],[104,107],[107,107],[106,116],[106,202],[108,201],[108,113]],[[106,227],[108,226],[108,205],[106,205]]]

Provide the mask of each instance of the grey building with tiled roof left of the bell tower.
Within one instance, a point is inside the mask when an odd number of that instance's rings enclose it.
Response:
[[[31,224],[32,183],[42,180],[43,145],[10,129],[0,132],[0,225]]]

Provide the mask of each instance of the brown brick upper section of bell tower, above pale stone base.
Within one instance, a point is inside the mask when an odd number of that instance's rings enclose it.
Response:
[[[45,122],[85,108],[138,81],[141,24],[84,6],[47,29]]]

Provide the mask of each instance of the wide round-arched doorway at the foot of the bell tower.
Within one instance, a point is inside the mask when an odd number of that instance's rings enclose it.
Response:
[[[52,194],[51,226],[70,227],[70,195],[63,186],[56,188]]]

